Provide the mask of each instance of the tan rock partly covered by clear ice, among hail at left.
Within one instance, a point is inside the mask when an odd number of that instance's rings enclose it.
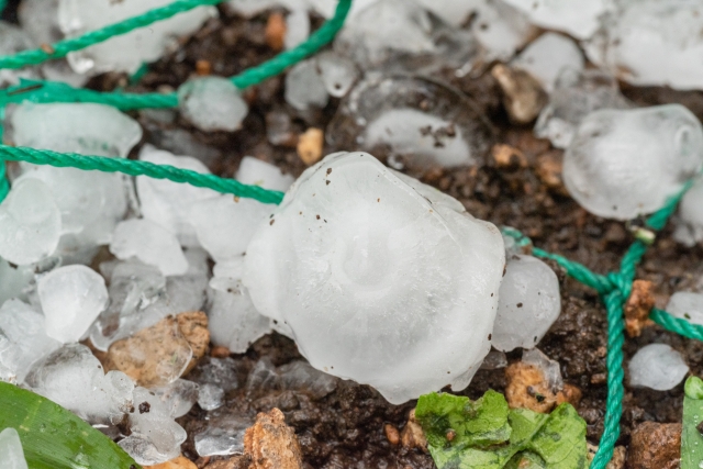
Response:
[[[103,366],[105,371],[124,372],[140,386],[165,386],[192,369],[209,342],[205,313],[181,313],[112,344]]]

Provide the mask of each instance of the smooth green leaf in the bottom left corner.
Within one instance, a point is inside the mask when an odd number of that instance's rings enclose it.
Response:
[[[58,404],[0,382],[0,431],[20,434],[30,469],[140,469],[112,439]]]

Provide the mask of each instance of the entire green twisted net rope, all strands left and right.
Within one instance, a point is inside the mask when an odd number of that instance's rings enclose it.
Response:
[[[156,21],[166,20],[196,7],[217,4],[222,1],[223,0],[178,0],[169,5],[152,10],[142,15],[78,37],[60,41],[48,47],[21,52],[13,56],[0,57],[0,68],[22,68],[41,64],[45,60],[65,57],[70,52],[89,47],[115,35],[125,34]],[[4,4],[5,0],[0,0],[0,11]],[[316,32],[311,34],[308,41],[257,67],[249,68],[232,77],[232,82],[237,88],[244,89],[279,75],[291,65],[314,54],[335,37],[344,25],[350,5],[352,0],[339,0],[334,16],[326,21]],[[175,108],[178,105],[178,94],[176,92],[167,94],[98,92],[72,88],[55,81],[23,80],[19,86],[0,91],[0,118],[4,116],[4,107],[7,104],[20,102],[93,102],[127,111],[145,108]],[[247,186],[234,179],[221,178],[214,175],[203,175],[167,165],[0,145],[0,200],[4,199],[10,189],[4,175],[5,165],[3,160],[27,161],[36,165],[123,172],[130,176],[168,179],[174,182],[185,182],[196,187],[213,189],[222,193],[252,198],[264,203],[280,203],[283,198],[283,193],[279,191],[272,191],[257,186]],[[691,186],[692,182],[688,182],[676,197],[667,201],[663,208],[649,216],[645,224],[646,227],[655,233],[662,230],[674,212],[683,193]],[[513,237],[521,246],[532,245],[529,238],[514,228],[504,228],[503,233]],[[651,242],[651,237],[638,237],[625,253],[621,261],[620,270],[606,275],[595,273],[585,266],[560,255],[551,254],[537,247],[533,248],[534,256],[556,261],[566,270],[567,275],[598,291],[605,304],[607,316],[607,401],[604,431],[598,453],[591,464],[591,469],[605,469],[613,457],[615,443],[620,437],[620,420],[623,412],[623,398],[625,392],[623,384],[623,344],[625,342],[623,309],[632,292],[636,267]],[[684,337],[703,340],[703,326],[691,324],[685,320],[677,319],[666,311],[657,309],[651,311],[649,317],[667,331]]]

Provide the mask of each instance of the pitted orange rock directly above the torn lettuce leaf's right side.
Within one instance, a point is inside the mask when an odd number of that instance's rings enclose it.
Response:
[[[505,368],[505,399],[511,409],[548,413],[559,404],[568,402],[576,406],[581,400],[581,390],[576,386],[563,384],[563,389],[554,392],[542,370],[522,361]]]

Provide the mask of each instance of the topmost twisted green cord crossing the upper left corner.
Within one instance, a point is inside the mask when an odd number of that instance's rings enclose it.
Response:
[[[148,26],[157,21],[168,20],[179,13],[190,11],[202,5],[221,3],[224,0],[177,0],[166,7],[155,8],[138,16],[129,18],[119,23],[111,24],[97,31],[59,41],[46,51],[43,48],[22,51],[15,55],[0,56],[0,68],[22,68],[43,62],[66,57],[68,53],[80,51],[99,44],[111,37],[126,34],[140,27]],[[47,52],[48,51],[48,52]]]

